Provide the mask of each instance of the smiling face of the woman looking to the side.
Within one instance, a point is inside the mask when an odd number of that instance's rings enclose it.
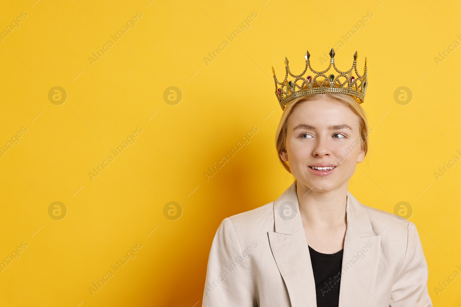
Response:
[[[319,192],[347,186],[365,157],[358,116],[328,98],[296,106],[288,120],[285,148],[280,157],[289,162],[298,185]]]

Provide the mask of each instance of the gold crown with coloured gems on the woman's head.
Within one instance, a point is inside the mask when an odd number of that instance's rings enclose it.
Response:
[[[330,51],[330,65],[323,71],[315,71],[312,69],[309,62],[310,54],[306,51],[304,57],[306,58],[306,67],[301,75],[293,75],[288,67],[288,59],[285,57],[285,79],[283,82],[279,82],[275,76],[275,70],[272,67],[272,74],[274,75],[275,81],[275,95],[277,96],[278,102],[284,110],[285,105],[292,99],[301,96],[321,93],[339,93],[348,94],[357,99],[359,104],[363,103],[366,93],[366,87],[368,82],[366,80],[366,58],[365,67],[363,69],[363,75],[360,75],[357,71],[357,52],[354,53],[354,63],[348,71],[341,71],[336,68],[335,65],[335,51],[331,48]],[[333,66],[335,73],[327,73],[331,66]],[[307,68],[310,72],[306,78]],[[351,72],[355,72],[355,76],[351,75]],[[295,78],[294,81],[288,81],[288,74]],[[314,76],[311,76],[315,74]],[[298,85],[299,81],[302,81],[301,85]],[[280,85],[280,87],[278,87]],[[286,90],[284,88],[286,87]]]

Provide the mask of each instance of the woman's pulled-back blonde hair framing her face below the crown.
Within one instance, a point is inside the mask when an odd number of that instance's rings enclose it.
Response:
[[[360,127],[360,137],[361,137],[361,146],[362,149],[365,151],[365,155],[368,152],[368,122],[366,119],[365,110],[361,107],[361,105],[357,102],[357,100],[347,94],[334,94],[334,93],[325,93],[325,94],[311,94],[307,96],[301,96],[290,100],[284,109],[284,113],[280,118],[280,122],[278,123],[277,132],[275,133],[275,147],[277,149],[278,159],[282,163],[282,166],[289,172],[290,165],[288,162],[285,162],[280,157],[280,153],[282,151],[286,151],[286,138],[287,138],[287,130],[288,130],[288,120],[290,119],[290,115],[295,110],[296,106],[301,104],[305,101],[312,101],[321,98],[328,98],[331,101],[335,101],[341,104],[346,105],[349,107],[352,112],[359,118],[359,127]]]

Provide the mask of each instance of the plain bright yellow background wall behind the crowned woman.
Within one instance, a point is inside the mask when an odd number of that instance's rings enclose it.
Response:
[[[207,258],[221,220],[276,199],[292,182],[274,135],[282,111],[271,66],[284,57],[298,73],[306,49],[314,68],[338,41],[339,69],[359,51],[368,59],[363,104],[373,132],[370,151],[350,180],[362,203],[414,213],[429,266],[434,306],[457,306],[461,277],[439,295],[434,287],[461,266],[460,54],[434,57],[461,40],[459,1],[89,1],[1,4],[0,29],[26,12],[4,41],[0,145],[21,127],[18,144],[0,157],[1,306],[201,305]],[[128,30],[97,62],[89,57],[129,19]],[[232,42],[226,35],[257,17]],[[349,40],[344,35],[372,13]],[[208,65],[204,57],[229,46]],[[328,60],[328,58],[326,58]],[[297,67],[297,68],[296,68]],[[48,100],[63,87],[64,104]],[[170,105],[167,87],[183,98]],[[413,93],[397,104],[394,91]],[[155,114],[154,117],[152,117]],[[37,117],[38,116],[38,117]],[[384,116],[384,117],[383,117]],[[93,180],[89,172],[136,129],[136,142]],[[251,127],[248,145],[207,181],[204,173]],[[64,219],[48,207],[65,204]],[[168,220],[166,203],[183,214]],[[155,230],[155,231],[154,231]],[[154,231],[154,232],[153,232]],[[100,290],[89,287],[137,242],[142,248]],[[79,305],[80,304],[80,305]]]

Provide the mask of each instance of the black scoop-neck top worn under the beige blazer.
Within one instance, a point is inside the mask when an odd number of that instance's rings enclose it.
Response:
[[[315,280],[317,307],[338,307],[343,251],[322,254],[309,246]]]

